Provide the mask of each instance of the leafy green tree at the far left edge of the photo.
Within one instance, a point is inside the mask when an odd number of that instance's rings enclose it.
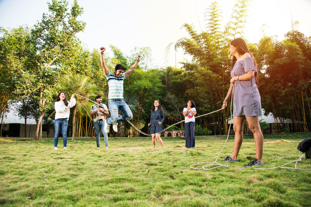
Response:
[[[0,66],[1,66],[1,113],[7,106],[9,100],[22,101],[23,105],[18,107],[19,114],[25,118],[28,115],[29,96],[34,91],[34,74],[29,72],[35,67],[30,61],[33,57],[33,46],[30,41],[30,30],[27,26],[21,26],[10,31],[2,29],[3,36],[0,40]],[[19,105],[20,106],[20,105]]]

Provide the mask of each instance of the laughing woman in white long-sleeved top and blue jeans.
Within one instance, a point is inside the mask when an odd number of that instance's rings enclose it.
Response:
[[[58,135],[60,133],[60,128],[62,127],[63,143],[64,149],[67,149],[67,127],[68,119],[70,115],[70,108],[76,105],[76,99],[74,94],[70,98],[70,102],[66,100],[66,95],[64,92],[58,93],[58,96],[54,103],[55,108],[55,121],[54,121],[54,150],[57,150]]]

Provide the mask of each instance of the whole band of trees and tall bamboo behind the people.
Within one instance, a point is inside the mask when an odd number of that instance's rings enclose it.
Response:
[[[29,115],[25,114],[25,110],[19,110],[20,116],[36,116],[39,133],[39,122],[47,117],[53,118],[53,102],[60,91],[68,95],[76,93],[92,100],[96,95],[102,95],[103,103],[108,105],[108,85],[100,66],[99,52],[97,49],[87,51],[75,36],[85,26],[84,22],[76,20],[82,9],[75,1],[71,14],[61,15],[61,12],[67,11],[67,4],[66,1],[49,4],[51,13],[59,13],[63,18],[69,15],[68,18],[73,19],[63,21],[63,30],[67,34],[57,25],[60,20],[53,20],[55,15],[49,16],[51,21],[47,21],[46,15],[34,28],[1,28],[0,115],[4,115],[11,102],[32,100],[23,102],[36,107],[28,111]],[[236,0],[231,19],[226,25],[220,25],[222,11],[216,2],[206,9],[203,20],[205,28],[201,32],[185,23],[183,28],[188,32],[188,37],[179,39],[174,46],[176,51],[182,50],[192,60],[181,62],[181,68],[151,67],[148,60],[152,59],[152,55],[148,47],[135,48],[132,54],[126,55],[121,49],[110,45],[113,55],[105,54],[105,60],[111,72],[116,64],[129,68],[135,62],[136,54],[142,55],[135,72],[124,81],[124,99],[133,112],[132,123],[135,126],[148,132],[151,106],[158,99],[165,110],[165,125],[183,120],[181,114],[188,99],[195,102],[198,115],[221,108],[230,85],[230,40],[241,37],[247,41],[244,26],[249,4],[248,0]],[[265,113],[272,113],[275,119],[293,120],[290,132],[309,132],[311,38],[297,28],[298,22],[292,23],[292,30],[284,35],[282,41],[263,34],[258,43],[247,43],[258,63],[258,89]],[[49,38],[52,34],[58,34],[55,40],[58,45],[53,38]],[[72,139],[94,136],[90,117],[94,103],[82,97],[76,96],[76,99],[77,105],[71,109],[68,131]],[[228,107],[198,118],[196,124],[211,130],[212,134],[225,134],[229,115]],[[182,128],[183,123],[176,127]],[[141,136],[128,123],[119,124],[118,128],[118,133],[111,132],[110,136]],[[276,131],[280,129],[276,128]],[[245,133],[249,133],[247,129]]]

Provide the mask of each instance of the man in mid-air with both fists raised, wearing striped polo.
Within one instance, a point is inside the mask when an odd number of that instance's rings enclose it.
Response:
[[[132,111],[123,100],[123,81],[124,79],[128,78],[128,76],[130,76],[130,74],[132,74],[132,72],[135,70],[141,56],[137,55],[137,60],[135,61],[134,65],[132,65],[126,72],[124,72],[126,68],[123,65],[118,64],[115,67],[114,74],[112,74],[105,64],[105,50],[105,47],[100,47],[100,63],[109,86],[108,107],[110,110],[110,117],[105,120],[104,125],[104,130],[109,133],[110,124],[112,124],[114,131],[118,132],[118,122],[131,120],[133,118]],[[119,109],[124,114],[122,117],[118,116]]]

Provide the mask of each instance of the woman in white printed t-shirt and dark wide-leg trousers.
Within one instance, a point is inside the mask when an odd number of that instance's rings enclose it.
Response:
[[[183,108],[183,116],[185,117],[185,138],[186,148],[195,148],[195,115],[197,110],[195,109],[194,102],[189,99],[186,108]]]

